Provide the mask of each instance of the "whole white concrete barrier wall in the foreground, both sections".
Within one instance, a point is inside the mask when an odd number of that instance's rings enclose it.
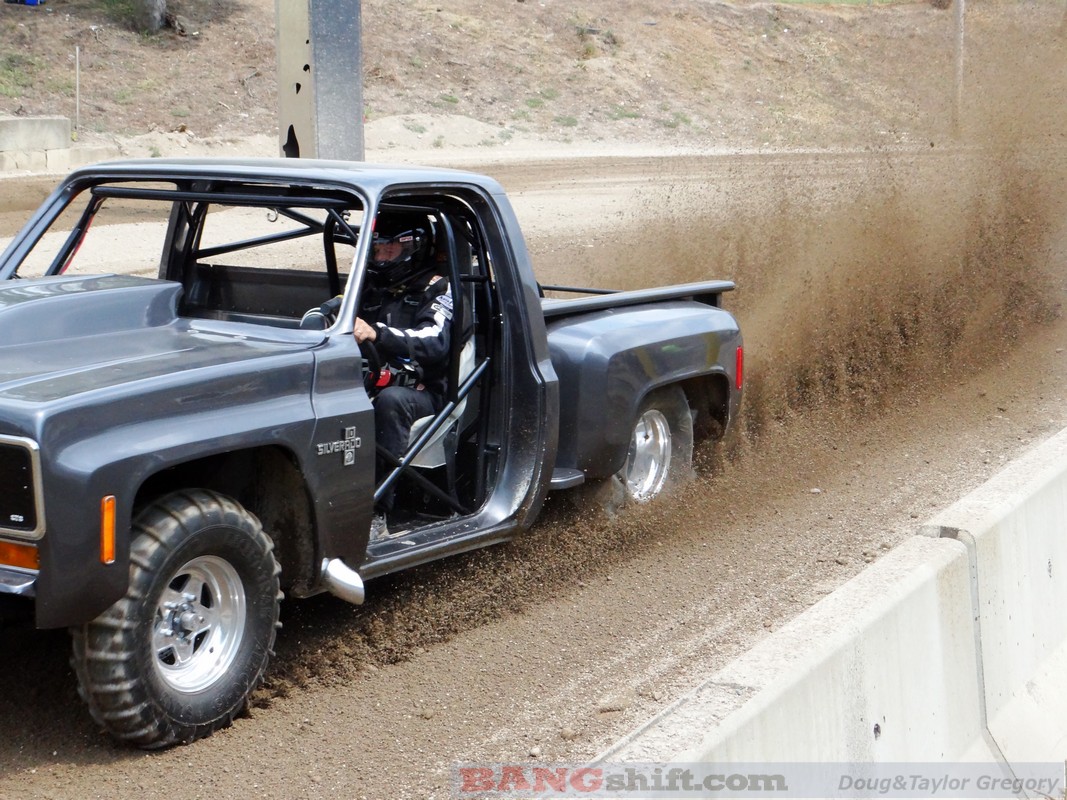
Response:
[[[1067,431],[598,761],[1067,756]]]

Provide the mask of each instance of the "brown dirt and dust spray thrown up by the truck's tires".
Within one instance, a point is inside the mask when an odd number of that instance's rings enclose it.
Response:
[[[715,474],[775,448],[801,417],[838,428],[981,372],[1062,313],[1065,44],[1057,29],[993,37],[968,64],[955,140],[908,150],[745,154],[657,162],[585,246],[534,237],[543,281],[637,288],[730,278],[747,386],[727,443],[704,447],[685,505],[715,516]],[[647,169],[648,165],[641,167]],[[576,180],[578,178],[575,178]],[[559,180],[566,188],[566,178]],[[346,682],[555,596],[669,540],[670,501],[611,522],[550,501],[500,547],[383,578],[368,605],[287,604],[259,705]]]

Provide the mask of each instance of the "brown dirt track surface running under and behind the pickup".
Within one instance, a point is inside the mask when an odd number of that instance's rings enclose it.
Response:
[[[593,755],[1067,425],[1063,165],[493,166],[545,279],[737,281],[737,435],[622,522],[560,497],[522,540],[376,581],[362,608],[287,604],[251,716],[190,747],[114,747],[66,635],[0,630],[0,798],[441,798],[457,761]]]

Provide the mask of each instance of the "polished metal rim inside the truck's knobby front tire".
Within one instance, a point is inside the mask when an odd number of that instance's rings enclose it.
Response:
[[[248,614],[237,571],[216,556],[185,564],[156,608],[152,646],[159,676],[196,692],[225,676],[241,649]]]

